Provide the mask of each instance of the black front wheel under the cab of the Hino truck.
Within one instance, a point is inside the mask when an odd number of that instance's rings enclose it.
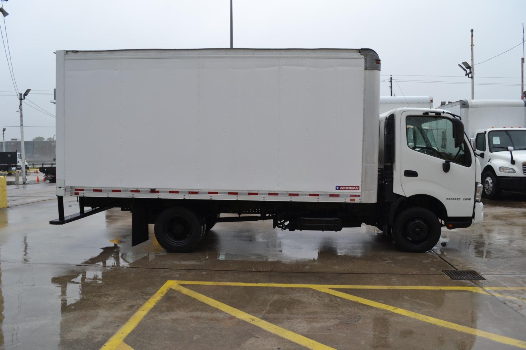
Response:
[[[403,251],[423,253],[437,245],[441,225],[430,210],[413,207],[398,215],[392,227],[392,237]]]

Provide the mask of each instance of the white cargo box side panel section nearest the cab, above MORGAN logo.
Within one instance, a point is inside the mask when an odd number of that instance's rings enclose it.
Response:
[[[279,189],[361,185],[363,71],[361,56],[282,59]]]

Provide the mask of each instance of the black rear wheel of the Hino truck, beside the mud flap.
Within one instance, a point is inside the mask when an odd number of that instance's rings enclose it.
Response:
[[[171,207],[163,210],[155,220],[155,238],[167,252],[186,253],[197,245],[206,227],[191,210]]]

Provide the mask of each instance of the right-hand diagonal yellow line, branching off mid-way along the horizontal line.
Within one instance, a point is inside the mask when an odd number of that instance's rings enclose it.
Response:
[[[498,334],[494,334],[494,333],[490,333],[490,332],[481,331],[481,330],[478,330],[477,328],[471,328],[471,327],[467,327],[467,326],[462,326],[462,325],[457,324],[457,323],[452,323],[452,322],[436,319],[434,317],[430,317],[430,316],[426,316],[426,315],[423,315],[423,314],[419,314],[417,312],[412,312],[412,311],[409,311],[409,310],[400,309],[399,307],[395,307],[395,306],[379,303],[379,302],[372,301],[372,300],[369,300],[369,299],[360,298],[359,296],[338,292],[338,291],[331,290],[331,289],[328,289],[328,288],[313,288],[313,289],[316,289],[316,290],[318,290],[320,292],[323,292],[323,293],[328,293],[328,294],[332,294],[332,295],[335,295],[335,296],[339,296],[340,298],[343,298],[343,299],[355,301],[355,302],[360,303],[360,304],[365,304],[365,305],[369,305],[369,306],[372,306],[372,307],[377,307],[378,309],[391,311],[391,312],[397,313],[399,315],[408,316],[408,317],[411,317],[412,319],[416,319],[416,320],[419,320],[419,321],[431,323],[431,324],[434,324],[434,325],[437,325],[437,326],[450,328],[451,330],[454,330],[454,331],[468,333],[468,334],[472,334],[474,336],[488,338],[488,339],[490,339],[490,340],[492,340],[494,342],[507,344],[507,345],[512,345],[512,346],[517,346],[517,347],[526,349],[526,342],[518,340],[518,339],[514,339],[514,338],[510,338],[510,337],[506,337],[506,336],[502,336],[502,335],[498,335]]]

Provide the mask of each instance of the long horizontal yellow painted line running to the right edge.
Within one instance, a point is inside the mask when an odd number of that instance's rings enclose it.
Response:
[[[277,288],[330,288],[330,289],[386,289],[386,290],[464,290],[489,295],[485,290],[526,290],[526,287],[462,287],[442,285],[354,285],[354,284],[298,284],[298,283],[247,283],[214,281],[172,281],[177,284],[229,285],[234,287]]]

